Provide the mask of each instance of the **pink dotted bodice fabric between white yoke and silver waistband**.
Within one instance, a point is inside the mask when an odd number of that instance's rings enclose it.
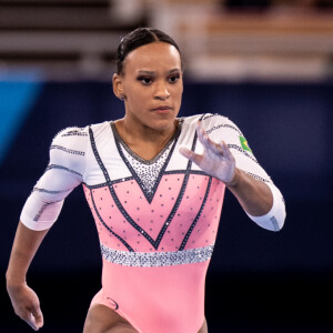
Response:
[[[151,235],[153,240],[155,240],[176,201],[183,176],[183,174],[163,175],[151,203],[147,201],[140,186],[134,180],[118,183],[113,186],[127,213],[137,224]],[[209,178],[206,175],[190,175],[182,202],[168,226],[168,231],[163,235],[158,250],[154,250],[152,244],[128,222],[112,199],[109,188],[93,189],[91,194],[97,211],[104,223],[114,233],[123,238],[134,251],[178,251],[182,240],[200,211],[202,201],[204,200],[208,181]],[[90,190],[87,186],[84,186],[84,193],[97,222],[101,243],[114,250],[128,251],[122,242],[102,225],[92,204]],[[220,221],[223,195],[224,184],[216,179],[212,179],[209,198],[206,199],[204,209],[184,250],[204,248],[214,242]]]

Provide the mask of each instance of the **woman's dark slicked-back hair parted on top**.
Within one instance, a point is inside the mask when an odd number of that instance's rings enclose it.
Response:
[[[120,41],[117,51],[117,73],[123,74],[123,62],[128,54],[145,44],[150,44],[153,42],[165,42],[176,48],[179,54],[181,56],[180,49],[176,42],[167,33],[161,30],[153,29],[153,28],[138,28],[125,37],[123,37]]]

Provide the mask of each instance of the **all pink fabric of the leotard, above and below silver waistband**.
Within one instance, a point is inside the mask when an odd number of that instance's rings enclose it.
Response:
[[[176,203],[183,180],[184,174],[164,174],[151,203],[135,180],[114,183],[112,186],[122,208],[117,205],[117,198],[111,195],[109,186],[90,190],[84,185],[101,244],[111,250],[129,251],[112,232],[134,252],[141,253],[176,252],[214,243],[225,186],[212,179],[208,188],[210,178],[204,174],[190,174],[182,200],[157,250],[127,219],[128,214],[155,241]],[[185,246],[180,249],[191,225],[192,232]],[[204,321],[204,283],[209,262],[143,268],[103,259],[102,290],[92,304],[113,309],[138,332],[196,333]]]

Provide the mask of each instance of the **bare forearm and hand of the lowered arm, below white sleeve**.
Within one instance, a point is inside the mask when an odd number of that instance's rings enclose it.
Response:
[[[7,291],[16,314],[36,331],[42,327],[43,315],[37,294],[27,284],[27,272],[48,231],[30,230],[20,221],[6,273]]]

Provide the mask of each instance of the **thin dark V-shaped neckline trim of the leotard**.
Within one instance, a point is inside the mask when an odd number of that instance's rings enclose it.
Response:
[[[153,157],[152,159],[150,160],[145,160],[141,157],[139,157],[135,152],[132,151],[132,149],[124,142],[124,140],[121,138],[121,135],[119,134],[119,132],[117,131],[117,128],[115,128],[115,123],[114,121],[110,121],[110,124],[111,124],[111,129],[112,129],[112,132],[113,132],[113,135],[115,138],[115,140],[121,143],[121,145],[125,149],[125,151],[133,158],[135,159],[137,161],[139,161],[140,163],[143,163],[143,164],[147,164],[147,165],[150,165],[150,164],[153,164],[155,163],[159,158],[161,155],[163,155],[163,153],[165,152],[167,149],[169,149],[169,147],[174,142],[174,140],[176,140],[180,135],[180,132],[181,132],[181,129],[182,129],[182,123],[183,123],[183,118],[180,118],[179,119],[179,123],[175,128],[175,131],[174,133],[172,134],[172,137],[169,139],[169,141],[164,144],[164,147],[162,148],[162,150],[155,155]]]

